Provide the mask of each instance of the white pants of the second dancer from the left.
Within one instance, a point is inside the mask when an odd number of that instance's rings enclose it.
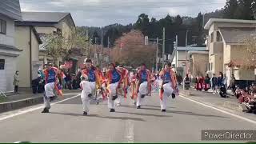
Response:
[[[81,93],[82,110],[88,113],[89,106],[90,106],[90,98],[88,97],[88,94],[94,93],[94,90],[96,89],[96,84],[95,82],[82,81],[81,85],[82,85],[82,93]]]

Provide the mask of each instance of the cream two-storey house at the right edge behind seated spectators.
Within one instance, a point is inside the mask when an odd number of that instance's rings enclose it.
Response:
[[[210,72],[223,72],[230,83],[234,74],[237,80],[254,80],[254,70],[243,68],[248,51],[245,40],[255,34],[256,22],[250,20],[211,18],[204,27],[209,30],[207,50],[209,50]]]

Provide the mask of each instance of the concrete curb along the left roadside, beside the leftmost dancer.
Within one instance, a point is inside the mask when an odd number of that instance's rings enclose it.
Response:
[[[43,97],[37,98],[26,98],[14,102],[3,102],[0,103],[0,113],[7,112],[10,110],[17,110],[26,106],[34,106],[43,102]]]

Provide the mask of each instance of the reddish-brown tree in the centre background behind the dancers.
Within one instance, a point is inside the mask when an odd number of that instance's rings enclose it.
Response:
[[[115,62],[130,66],[138,66],[141,62],[145,62],[150,67],[154,64],[155,47],[154,45],[145,46],[142,32],[131,30],[116,40],[111,55]]]

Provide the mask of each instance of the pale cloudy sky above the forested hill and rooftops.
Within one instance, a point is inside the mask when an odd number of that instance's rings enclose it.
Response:
[[[226,0],[20,0],[22,11],[70,12],[77,26],[123,25],[145,13],[154,18],[166,14],[195,17],[221,9]]]

